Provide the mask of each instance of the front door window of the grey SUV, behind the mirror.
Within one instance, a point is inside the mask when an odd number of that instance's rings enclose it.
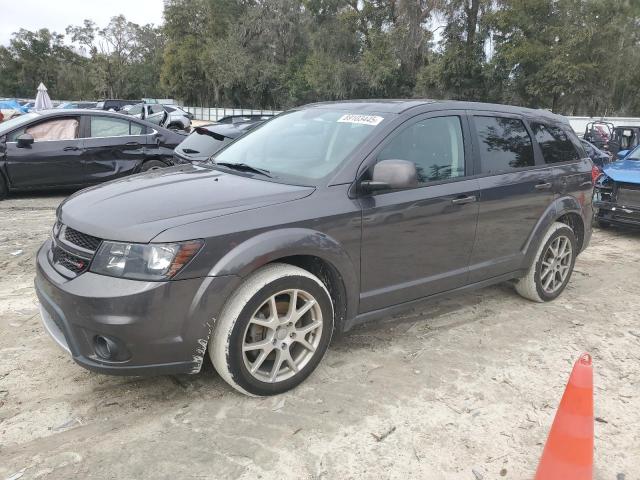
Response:
[[[429,118],[414,123],[380,152],[380,160],[415,163],[421,183],[464,176],[460,117]]]

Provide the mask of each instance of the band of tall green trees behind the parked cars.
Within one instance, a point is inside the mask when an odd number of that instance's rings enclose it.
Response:
[[[640,115],[636,0],[165,0],[164,25],[16,33],[0,94],[288,108],[347,98]]]

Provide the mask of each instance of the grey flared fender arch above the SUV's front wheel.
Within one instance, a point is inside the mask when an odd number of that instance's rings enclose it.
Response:
[[[288,228],[256,235],[222,257],[209,276],[237,275],[244,279],[269,263],[295,265],[317,276],[331,294],[337,331],[356,315],[359,298],[356,268],[338,241],[316,230]]]

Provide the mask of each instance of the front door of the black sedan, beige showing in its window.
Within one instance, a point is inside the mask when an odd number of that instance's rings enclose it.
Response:
[[[34,143],[19,148],[16,139],[24,133]],[[78,117],[48,118],[22,127],[8,135],[6,148],[7,174],[14,188],[85,184]]]

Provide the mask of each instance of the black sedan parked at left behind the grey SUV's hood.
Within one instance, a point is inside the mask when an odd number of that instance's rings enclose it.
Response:
[[[97,110],[31,112],[0,124],[0,198],[78,188],[166,167],[184,135]]]

